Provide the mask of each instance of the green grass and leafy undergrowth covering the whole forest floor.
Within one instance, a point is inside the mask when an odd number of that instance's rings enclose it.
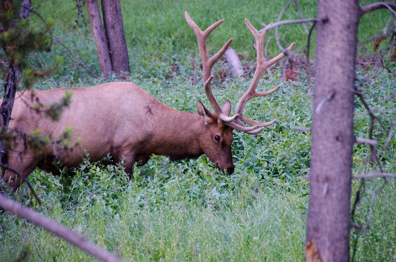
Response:
[[[69,32],[75,18],[71,11],[74,1],[55,1],[55,5],[52,2],[42,1],[38,10],[56,18],[55,36],[99,73],[91,36],[85,35],[84,27]],[[225,23],[209,39],[210,50],[217,51],[228,38],[235,37],[233,47],[251,59],[255,54],[243,18],[257,27],[260,22],[275,21],[285,2],[250,1],[245,5],[231,0],[122,1],[132,69],[130,81],[179,110],[196,111],[198,99],[209,106],[202,84],[191,84],[190,57],[196,55],[198,48],[193,31],[184,21],[184,11],[188,10],[202,27],[224,18]],[[315,14],[316,2],[299,3],[305,16]],[[380,32],[388,17],[385,11],[363,17],[359,39]],[[292,18],[297,18],[293,6],[284,16]],[[303,49],[306,37],[302,26],[286,26],[281,33],[286,43],[296,41],[297,50]],[[273,32],[270,34],[273,36]],[[277,52],[272,43],[271,55]],[[38,53],[38,58],[32,56],[30,64],[40,68],[40,61],[48,64],[55,55],[65,57],[63,65],[39,81],[36,88],[83,87],[105,81],[93,79],[56,44],[51,52]],[[175,61],[180,70],[172,73],[169,66]],[[365,98],[389,128],[389,119],[396,119],[393,74],[381,68],[358,67],[356,75],[363,80],[358,85]],[[114,76],[110,80],[115,80]],[[213,82],[215,97],[220,102],[230,99],[234,108],[249,84],[230,79]],[[258,88],[269,90],[278,84],[282,88],[276,93],[247,103],[247,116],[278,121],[256,136],[234,131],[236,168],[232,176],[217,171],[204,156],[177,162],[154,156],[145,166],[135,168],[131,180],[119,166],[87,159],[79,168],[63,172],[60,178],[40,170],[29,176],[42,206],[25,186],[14,197],[83,232],[126,261],[303,261],[308,183],[300,177],[309,171],[310,133],[292,128],[310,126],[312,112],[304,74],[297,82],[285,82],[280,68],[273,68]],[[355,136],[367,138],[369,124],[368,114],[356,100]],[[386,135],[378,125],[374,136],[380,138],[379,154],[385,171],[395,173],[395,136],[386,148],[382,148]],[[364,161],[368,155],[367,146],[354,147],[353,173],[378,171]],[[379,179],[367,181],[356,222],[365,223],[373,192],[381,183]],[[354,192],[357,186],[354,183]],[[352,230],[351,242],[359,238],[355,261],[395,261],[395,190],[395,182],[390,181],[379,195],[368,232],[356,235]],[[28,254],[26,261],[94,261],[34,225],[1,212],[1,261],[15,261],[23,252]]]

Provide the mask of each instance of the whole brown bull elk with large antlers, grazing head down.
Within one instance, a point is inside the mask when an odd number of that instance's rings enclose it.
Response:
[[[128,174],[132,173],[135,162],[137,165],[143,165],[152,154],[169,156],[171,160],[197,158],[205,154],[217,168],[226,170],[228,174],[233,173],[233,130],[257,134],[276,121],[274,119],[264,123],[257,122],[245,117],[243,111],[251,98],[267,96],[280,88],[277,86],[269,91],[256,92],[263,72],[284,57],[285,53],[265,61],[263,41],[267,30],[259,33],[245,19],[247,28],[256,40],[257,66],[247,92],[239,100],[233,116],[230,116],[230,101],[226,100],[224,105],[220,106],[212,94],[210,82],[213,79],[213,64],[224,54],[233,39],[209,57],[206,51],[206,37],[224,20],[201,31],[187,12],[185,18],[197,36],[203,64],[204,91],[214,113],[200,101],[197,102],[198,113],[178,111],[160,103],[146,91],[129,82],[111,82],[86,88],[36,90],[34,95],[31,91],[19,92],[11,114],[10,129],[24,133],[40,129],[42,134],[59,137],[66,126],[72,126],[72,141],[79,138],[81,144],[61,154],[55,152],[54,145],[49,145],[45,152],[37,155],[29,147],[26,148],[21,139],[17,139],[14,141],[14,147],[6,152],[10,169],[2,172],[5,183],[17,189],[36,167],[54,175],[59,174],[59,170],[53,165],[58,159],[64,166],[76,167],[85,157],[84,150],[88,150],[93,161],[107,154],[111,154],[117,162],[123,159],[125,172]],[[294,45],[295,43],[287,50],[290,51]],[[59,121],[53,122],[33,110],[33,97],[37,97],[43,105],[51,105],[62,99],[66,91],[71,91],[73,96]]]

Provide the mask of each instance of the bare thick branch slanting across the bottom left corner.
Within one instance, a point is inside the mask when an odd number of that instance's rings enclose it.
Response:
[[[49,231],[55,236],[64,239],[75,247],[97,258],[99,261],[123,262],[123,260],[121,260],[116,255],[111,254],[108,251],[98,247],[94,243],[88,241],[83,235],[72,231],[70,228],[60,224],[56,220],[50,219],[38,213],[36,210],[22,206],[4,194],[0,194],[0,207]]]

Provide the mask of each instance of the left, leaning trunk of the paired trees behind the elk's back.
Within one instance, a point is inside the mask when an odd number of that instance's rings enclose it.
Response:
[[[110,52],[107,46],[107,39],[106,35],[104,34],[102,21],[100,19],[98,0],[86,0],[85,3],[87,4],[91,32],[94,36],[96,43],[100,70],[103,76],[107,78],[108,74],[113,71],[113,66],[111,65]]]

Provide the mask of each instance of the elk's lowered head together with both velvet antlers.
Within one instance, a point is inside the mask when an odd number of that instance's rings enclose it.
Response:
[[[254,121],[245,117],[243,115],[243,111],[247,101],[251,98],[268,96],[269,94],[277,91],[280,88],[280,85],[278,85],[269,91],[256,92],[257,84],[264,71],[269,66],[283,58],[286,55],[285,52],[289,52],[290,50],[292,50],[295,46],[295,43],[292,43],[287,48],[287,51],[280,53],[279,55],[268,61],[265,61],[263,56],[263,44],[264,38],[268,32],[267,27],[264,28],[262,33],[259,33],[245,18],[247,28],[250,30],[254,39],[256,40],[257,66],[250,86],[247,89],[247,92],[239,100],[234,115],[230,117],[230,101],[227,100],[224,105],[220,107],[212,94],[210,82],[213,79],[213,75],[211,75],[213,64],[224,54],[233,39],[231,38],[230,40],[228,40],[217,53],[210,57],[206,50],[206,38],[217,26],[223,23],[224,20],[217,21],[216,23],[209,26],[205,31],[202,31],[200,30],[198,25],[191,19],[188,12],[185,12],[185,18],[187,23],[194,30],[197,36],[199,54],[202,58],[202,75],[204,83],[203,86],[206,97],[214,110],[214,113],[211,113],[207,108],[203,106],[200,101],[198,101],[197,103],[198,114],[205,122],[205,132],[209,131],[211,136],[210,141],[208,141],[207,136],[205,136],[206,141],[201,142],[201,144],[205,145],[204,147],[202,147],[202,149],[205,155],[209,157],[209,159],[213,163],[215,163],[215,165],[220,170],[227,170],[230,174],[234,171],[234,164],[232,162],[231,154],[231,143],[233,141],[232,131],[236,129],[239,131],[243,131],[247,134],[254,135],[263,131],[264,127],[270,126],[276,122],[276,119],[273,119],[269,122]],[[246,126],[246,124],[251,126]]]

